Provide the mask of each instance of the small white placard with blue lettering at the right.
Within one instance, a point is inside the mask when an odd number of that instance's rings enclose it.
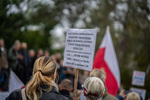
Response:
[[[134,71],[132,76],[132,85],[144,86],[145,72]]]

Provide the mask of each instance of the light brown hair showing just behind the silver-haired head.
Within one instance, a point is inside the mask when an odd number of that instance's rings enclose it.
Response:
[[[103,82],[105,82],[106,79],[106,72],[103,69],[94,69],[90,73],[90,77],[98,77],[100,78]]]

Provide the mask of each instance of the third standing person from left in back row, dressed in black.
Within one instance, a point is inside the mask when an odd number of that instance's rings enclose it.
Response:
[[[26,84],[27,82],[27,69],[29,66],[29,57],[28,57],[28,51],[27,51],[27,43],[22,42],[21,43],[21,49],[19,50],[19,54],[22,55],[22,59],[20,60],[20,65],[18,68],[18,76],[21,79],[21,81]]]

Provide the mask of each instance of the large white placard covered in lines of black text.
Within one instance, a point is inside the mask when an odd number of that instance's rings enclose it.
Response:
[[[68,29],[64,66],[92,71],[96,29]]]

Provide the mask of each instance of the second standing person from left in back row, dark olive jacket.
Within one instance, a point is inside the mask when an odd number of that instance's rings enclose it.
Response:
[[[20,65],[20,60],[23,59],[22,55],[19,54],[20,41],[16,40],[13,47],[8,52],[8,62],[9,68],[11,68],[18,75],[18,66]]]

